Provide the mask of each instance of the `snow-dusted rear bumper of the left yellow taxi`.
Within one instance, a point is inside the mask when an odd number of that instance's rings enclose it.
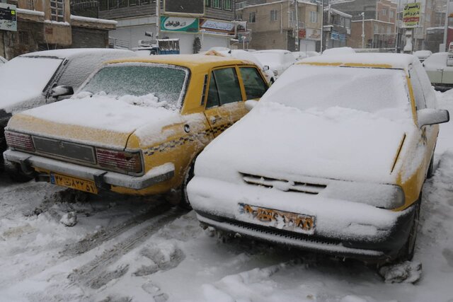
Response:
[[[33,170],[33,167],[35,167],[42,170],[74,176],[76,178],[93,180],[96,183],[96,187],[114,185],[117,187],[141,190],[159,182],[169,180],[175,175],[175,166],[173,163],[166,163],[159,167],[152,168],[142,176],[131,176],[85,167],[83,165],[76,165],[74,163],[65,163],[52,158],[36,156],[21,151],[7,150],[4,152],[4,159],[11,163],[20,164],[24,172]]]

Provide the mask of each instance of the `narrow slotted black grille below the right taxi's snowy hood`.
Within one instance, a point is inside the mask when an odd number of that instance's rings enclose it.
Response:
[[[241,173],[242,179],[249,185],[258,185],[261,187],[275,187],[282,191],[299,192],[305,194],[319,194],[327,185],[309,182],[295,182],[292,180],[279,180],[276,178],[268,178],[265,176],[251,175]]]

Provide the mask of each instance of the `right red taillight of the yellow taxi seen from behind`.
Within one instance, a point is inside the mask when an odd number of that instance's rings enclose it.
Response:
[[[142,172],[142,157],[140,152],[125,152],[107,149],[96,149],[98,165],[123,172]]]

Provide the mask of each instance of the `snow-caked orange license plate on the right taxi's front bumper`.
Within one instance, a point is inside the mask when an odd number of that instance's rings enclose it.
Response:
[[[239,212],[244,215],[248,221],[263,226],[271,226],[285,231],[309,235],[314,233],[315,216],[266,209],[250,204],[239,204]]]

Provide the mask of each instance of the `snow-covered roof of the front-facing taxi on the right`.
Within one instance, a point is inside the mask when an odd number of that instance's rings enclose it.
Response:
[[[310,57],[297,65],[328,65],[328,66],[363,66],[374,68],[395,68],[408,70],[417,57],[412,54],[332,54],[328,56]]]

